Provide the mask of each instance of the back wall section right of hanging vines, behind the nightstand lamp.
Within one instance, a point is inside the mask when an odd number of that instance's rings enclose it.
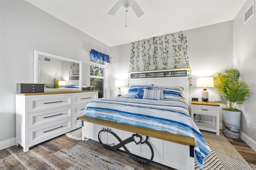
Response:
[[[213,77],[217,71],[233,67],[233,22],[222,22],[184,31],[188,40],[188,56],[192,69],[192,86],[189,88],[189,100],[192,97],[201,100],[202,88],[196,87],[198,77]],[[209,91],[209,101],[217,101],[218,95],[213,87]],[[224,105],[220,105],[224,107]],[[199,120],[199,115],[194,117]],[[212,122],[212,117],[202,115],[202,121]],[[220,112],[220,123],[222,114]],[[222,128],[222,126],[220,126]]]

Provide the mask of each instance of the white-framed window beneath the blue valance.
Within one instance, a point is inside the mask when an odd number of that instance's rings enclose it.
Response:
[[[90,57],[90,86],[99,91],[99,98],[104,97],[105,69],[104,61]]]

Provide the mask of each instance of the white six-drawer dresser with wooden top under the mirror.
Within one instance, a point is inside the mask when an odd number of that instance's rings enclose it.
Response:
[[[98,91],[16,93],[16,145],[27,152],[30,146],[81,127],[88,102]]]

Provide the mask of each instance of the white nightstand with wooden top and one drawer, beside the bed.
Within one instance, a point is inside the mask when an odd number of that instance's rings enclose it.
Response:
[[[220,105],[211,102],[191,101],[190,116],[194,121],[194,114],[212,116],[212,124],[195,122],[200,130],[216,132],[220,135]]]

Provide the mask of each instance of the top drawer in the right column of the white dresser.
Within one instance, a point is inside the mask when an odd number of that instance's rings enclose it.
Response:
[[[98,91],[96,93],[84,93],[73,95],[73,105],[85,104],[98,99]]]

